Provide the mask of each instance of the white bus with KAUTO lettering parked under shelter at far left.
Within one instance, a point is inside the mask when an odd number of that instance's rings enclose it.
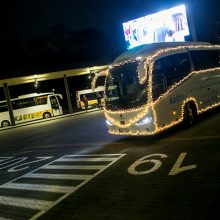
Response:
[[[33,93],[11,99],[15,124],[62,115],[59,101],[62,98],[61,94]],[[1,127],[11,125],[6,101],[0,101],[0,124]]]

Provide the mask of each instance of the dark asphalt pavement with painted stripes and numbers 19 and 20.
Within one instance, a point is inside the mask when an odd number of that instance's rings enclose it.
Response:
[[[218,219],[220,113],[155,137],[102,111],[0,131],[2,219]]]

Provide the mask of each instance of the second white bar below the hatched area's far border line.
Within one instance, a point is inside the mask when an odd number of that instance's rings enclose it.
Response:
[[[77,165],[46,165],[40,167],[40,169],[51,169],[51,170],[101,170],[105,168],[105,166],[99,165],[91,165],[91,166],[77,166]]]

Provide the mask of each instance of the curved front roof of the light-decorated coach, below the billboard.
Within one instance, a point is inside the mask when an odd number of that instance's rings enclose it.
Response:
[[[144,57],[148,56],[152,53],[155,53],[156,51],[160,49],[178,47],[178,46],[197,46],[197,45],[209,46],[210,43],[207,43],[207,42],[163,42],[163,43],[145,44],[145,45],[135,47],[131,50],[128,50],[122,53],[115,59],[115,61],[113,62],[113,65],[123,62],[125,60],[136,59],[137,57],[142,57],[142,56]]]

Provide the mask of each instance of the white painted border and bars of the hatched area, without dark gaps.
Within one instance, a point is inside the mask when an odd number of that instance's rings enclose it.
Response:
[[[126,154],[94,154],[94,155],[66,155],[63,156],[57,160],[51,161],[50,163],[45,164],[43,167],[39,167],[25,175],[22,175],[20,177],[15,178],[14,180],[9,181],[8,183],[5,183],[0,186],[0,189],[17,189],[17,190],[35,190],[35,191],[45,191],[45,193],[50,192],[61,192],[65,193],[63,196],[59,197],[56,201],[45,201],[45,200],[36,200],[36,199],[29,199],[29,198],[19,198],[19,197],[13,197],[13,196],[0,196],[0,204],[5,206],[15,206],[15,207],[23,207],[23,208],[30,208],[30,209],[36,209],[39,210],[37,214],[30,217],[30,220],[37,219],[44,213],[46,213],[50,208],[54,207],[58,203],[60,203],[63,199],[68,197],[70,194],[81,188],[83,185],[85,185],[87,182],[89,182],[91,179],[99,175],[101,172],[103,172],[105,169],[110,167],[113,163],[121,159]],[[87,158],[85,158],[87,156]],[[54,163],[60,162],[62,159],[79,159],[80,161],[85,161],[84,159],[95,159],[95,161],[103,161],[103,158],[100,158],[100,156],[103,156],[104,160],[108,161],[105,165],[86,165],[86,166],[78,166],[78,165],[68,165],[69,161],[66,161],[67,163],[65,165],[53,165]],[[110,157],[108,157],[110,156]],[[77,157],[77,158],[76,158]],[[88,158],[90,157],[90,158]],[[94,158],[96,157],[96,158]],[[113,158],[114,157],[114,158]],[[73,175],[73,174],[49,174],[49,173],[37,173],[40,169],[57,169],[57,166],[59,168],[65,168],[65,169],[94,169],[96,172],[93,175]],[[58,170],[59,170],[58,168]],[[29,183],[17,183],[16,181],[21,180],[22,178],[46,178],[46,179],[70,179],[70,180],[82,180],[77,186],[71,187],[71,186],[59,186],[59,185],[44,185],[44,184],[29,184]],[[43,180],[42,180],[43,182]],[[1,214],[0,214],[1,215]],[[16,218],[16,213],[14,218]],[[4,217],[0,217],[0,220],[9,220]]]

